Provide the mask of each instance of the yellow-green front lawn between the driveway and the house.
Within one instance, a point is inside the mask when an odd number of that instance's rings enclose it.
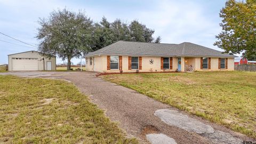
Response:
[[[256,138],[256,73],[122,74],[104,78]]]

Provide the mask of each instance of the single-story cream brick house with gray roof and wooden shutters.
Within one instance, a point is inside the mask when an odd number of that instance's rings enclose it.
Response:
[[[85,55],[86,70],[106,73],[234,70],[234,55],[193,43],[118,41]]]

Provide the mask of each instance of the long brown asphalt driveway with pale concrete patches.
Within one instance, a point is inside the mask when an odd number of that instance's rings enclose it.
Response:
[[[66,79],[89,95],[91,101],[112,121],[119,123],[128,137],[141,143],[242,143],[249,139],[223,126],[189,115],[146,95],[103,81],[89,72],[0,73],[24,77]]]

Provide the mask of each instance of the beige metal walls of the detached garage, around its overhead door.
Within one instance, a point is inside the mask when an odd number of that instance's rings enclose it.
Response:
[[[41,60],[44,57],[36,51],[29,51],[29,52],[23,52],[23,53],[17,53],[17,54],[12,54],[8,55],[8,68],[9,71],[12,71],[12,58],[37,58],[38,59],[38,70],[46,70],[47,67],[47,61],[52,62],[52,70],[56,70],[56,58],[52,57],[51,59],[45,58],[44,61]]]

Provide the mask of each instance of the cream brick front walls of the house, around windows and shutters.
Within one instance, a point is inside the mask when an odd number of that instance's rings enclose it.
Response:
[[[119,56],[119,55],[118,55]],[[132,56],[132,55],[131,55]],[[128,69],[128,57],[127,55],[122,55],[122,68],[123,72],[135,72],[136,70],[129,70]],[[92,65],[90,66],[90,58],[93,58]],[[149,60],[153,59],[153,65],[150,65]],[[211,69],[210,70],[219,70],[218,69],[218,58],[211,58]],[[195,67],[195,71],[202,70],[201,69],[201,58],[194,57],[194,58],[183,58],[184,68],[191,66]],[[94,68],[93,68],[94,65]],[[173,69],[166,69],[165,71],[175,71],[178,69],[178,58],[173,57]],[[97,55],[94,57],[87,57],[86,62],[86,70],[87,71],[98,71],[98,72],[107,72],[107,73],[119,73],[119,70],[107,70],[107,55]],[[228,59],[228,70],[234,70],[234,58]],[[163,71],[161,69],[161,57],[142,57],[142,69],[139,70],[140,72],[150,72],[150,71]],[[206,69],[207,71],[207,69]]]

